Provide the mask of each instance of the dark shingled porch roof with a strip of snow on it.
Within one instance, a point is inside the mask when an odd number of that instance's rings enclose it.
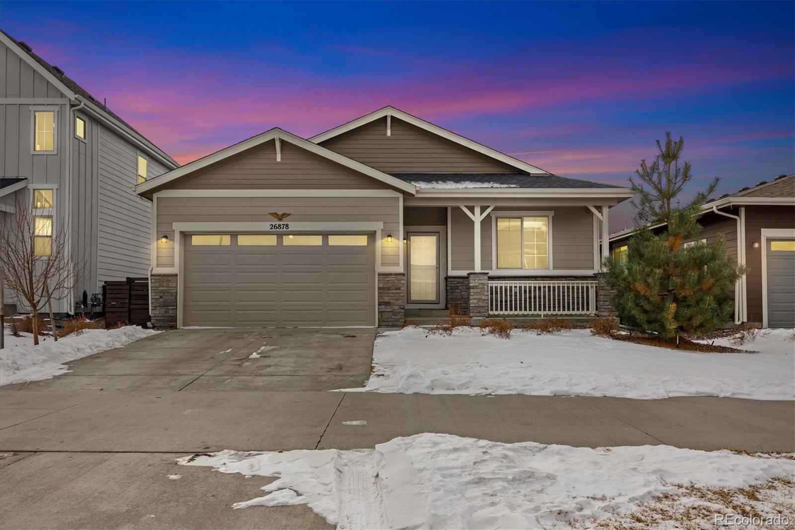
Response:
[[[390,173],[424,188],[614,188],[622,186],[602,182],[581,181],[557,175],[528,175],[526,173]]]

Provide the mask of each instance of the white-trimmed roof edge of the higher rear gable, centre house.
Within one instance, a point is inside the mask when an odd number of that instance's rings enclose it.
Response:
[[[479,154],[484,154],[489,158],[492,158],[498,162],[502,162],[507,166],[514,167],[517,170],[525,171],[526,173],[530,174],[541,174],[541,175],[550,174],[549,171],[541,170],[541,168],[532,166],[527,162],[522,162],[522,160],[519,160],[518,158],[514,158],[508,154],[501,153],[498,150],[491,149],[491,147],[484,146],[483,144],[475,142],[474,140],[470,140],[469,138],[464,138],[460,134],[448,131],[443,127],[439,127],[438,125],[434,125],[433,123],[426,122],[424,119],[417,118],[417,116],[410,115],[408,112],[401,111],[400,109],[391,106],[380,108],[378,109],[378,111],[370,112],[370,114],[366,114],[357,119],[353,119],[350,122],[343,123],[339,127],[334,127],[333,129],[330,129],[323,133],[316,134],[315,136],[312,136],[312,138],[309,138],[309,141],[315,143],[326,142],[331,138],[336,138],[340,134],[345,134],[349,131],[353,131],[354,129],[363,127],[367,123],[372,123],[375,120],[382,119],[387,116],[391,118],[401,119],[402,121],[409,123],[414,127],[418,127],[424,131],[428,131],[431,134],[436,134],[441,138],[456,143],[460,146],[464,146],[467,149],[473,150]]]

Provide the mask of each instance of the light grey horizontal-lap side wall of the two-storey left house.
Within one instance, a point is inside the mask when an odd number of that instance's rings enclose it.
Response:
[[[148,157],[149,178],[165,168]],[[151,266],[151,204],[138,197],[138,150],[106,127],[99,130],[97,279],[147,276]]]

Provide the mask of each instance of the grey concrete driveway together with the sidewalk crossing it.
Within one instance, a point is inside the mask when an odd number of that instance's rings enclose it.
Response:
[[[303,505],[232,510],[271,479],[175,466],[200,451],[351,449],[421,432],[795,451],[792,401],[325,392],[363,384],[374,335],[181,329],[0,388],[3,528],[330,528]]]

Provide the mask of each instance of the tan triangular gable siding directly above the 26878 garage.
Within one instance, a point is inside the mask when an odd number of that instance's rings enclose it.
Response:
[[[387,189],[372,177],[281,142],[276,161],[273,140],[219,166],[189,176],[173,189]]]

